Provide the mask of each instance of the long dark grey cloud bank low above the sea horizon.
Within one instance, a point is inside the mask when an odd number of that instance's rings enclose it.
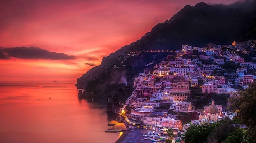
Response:
[[[51,52],[39,47],[0,47],[0,59],[48,59],[48,60],[69,60],[76,59],[75,56],[70,56],[64,53]]]

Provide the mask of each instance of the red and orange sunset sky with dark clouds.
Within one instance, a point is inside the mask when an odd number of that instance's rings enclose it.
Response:
[[[185,5],[237,0],[0,0],[0,81],[76,82]]]

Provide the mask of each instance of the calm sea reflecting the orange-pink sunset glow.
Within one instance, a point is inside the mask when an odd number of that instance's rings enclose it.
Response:
[[[0,142],[114,142],[106,105],[79,101],[74,85],[0,82]]]

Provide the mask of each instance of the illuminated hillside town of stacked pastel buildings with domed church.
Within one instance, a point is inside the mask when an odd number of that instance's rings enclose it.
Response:
[[[134,78],[134,90],[119,116],[131,129],[151,129],[164,135],[172,128],[176,142],[190,124],[233,119],[236,112],[226,109],[227,103],[216,104],[214,95],[232,97],[256,79],[255,45],[256,40],[205,47],[182,45],[182,50],[154,65],[153,71]],[[207,94],[213,95],[210,103],[203,108],[194,104],[202,98],[199,95]]]

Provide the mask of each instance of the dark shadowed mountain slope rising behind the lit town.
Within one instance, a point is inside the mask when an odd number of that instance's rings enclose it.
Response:
[[[77,79],[77,88],[84,88],[90,95],[105,97],[123,94],[123,98],[117,97],[122,101],[131,92],[134,76],[144,70],[152,70],[155,63],[172,54],[166,50],[178,50],[184,44],[204,46],[256,39],[255,4],[256,1],[232,5],[203,2],[195,6],[186,5],[169,20],[154,26],[141,39],[104,57],[99,66]],[[132,53],[135,51],[138,53]]]

